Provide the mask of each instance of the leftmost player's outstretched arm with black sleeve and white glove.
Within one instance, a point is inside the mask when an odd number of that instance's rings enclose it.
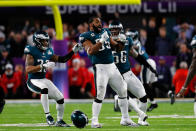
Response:
[[[81,45],[79,43],[77,43],[72,48],[72,51],[70,51],[68,54],[66,54],[64,56],[57,56],[54,54],[53,56],[51,56],[50,60],[54,61],[54,62],[65,63],[69,59],[71,59],[71,57],[74,55],[74,53],[77,53],[81,48],[82,48]]]

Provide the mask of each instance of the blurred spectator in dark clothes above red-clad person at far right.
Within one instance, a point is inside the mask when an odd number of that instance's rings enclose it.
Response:
[[[188,64],[188,67],[191,64],[192,54],[189,52],[186,44],[180,45],[180,52],[177,55],[176,58],[176,68],[178,69],[180,66],[180,62],[186,61]]]

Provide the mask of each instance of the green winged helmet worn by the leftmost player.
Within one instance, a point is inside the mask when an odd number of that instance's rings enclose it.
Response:
[[[33,34],[33,43],[35,44],[35,46],[37,46],[37,48],[43,51],[48,49],[49,40],[50,40],[50,37],[48,33],[44,31],[38,31]]]

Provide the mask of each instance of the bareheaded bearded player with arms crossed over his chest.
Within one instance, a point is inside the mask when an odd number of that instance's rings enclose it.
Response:
[[[99,17],[91,17],[89,27],[90,31],[80,35],[80,41],[87,51],[95,71],[96,98],[92,105],[91,127],[101,128],[98,116],[105,97],[107,84],[112,87],[119,97],[119,106],[122,113],[120,124],[137,126],[129,118],[128,114],[127,85],[114,64],[111,46],[115,46],[117,43],[112,40],[109,30],[102,28]]]

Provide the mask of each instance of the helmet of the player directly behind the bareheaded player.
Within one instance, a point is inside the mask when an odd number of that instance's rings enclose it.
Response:
[[[111,32],[112,38],[117,40],[119,34],[123,32],[123,25],[119,21],[112,21],[109,25],[109,30]]]

